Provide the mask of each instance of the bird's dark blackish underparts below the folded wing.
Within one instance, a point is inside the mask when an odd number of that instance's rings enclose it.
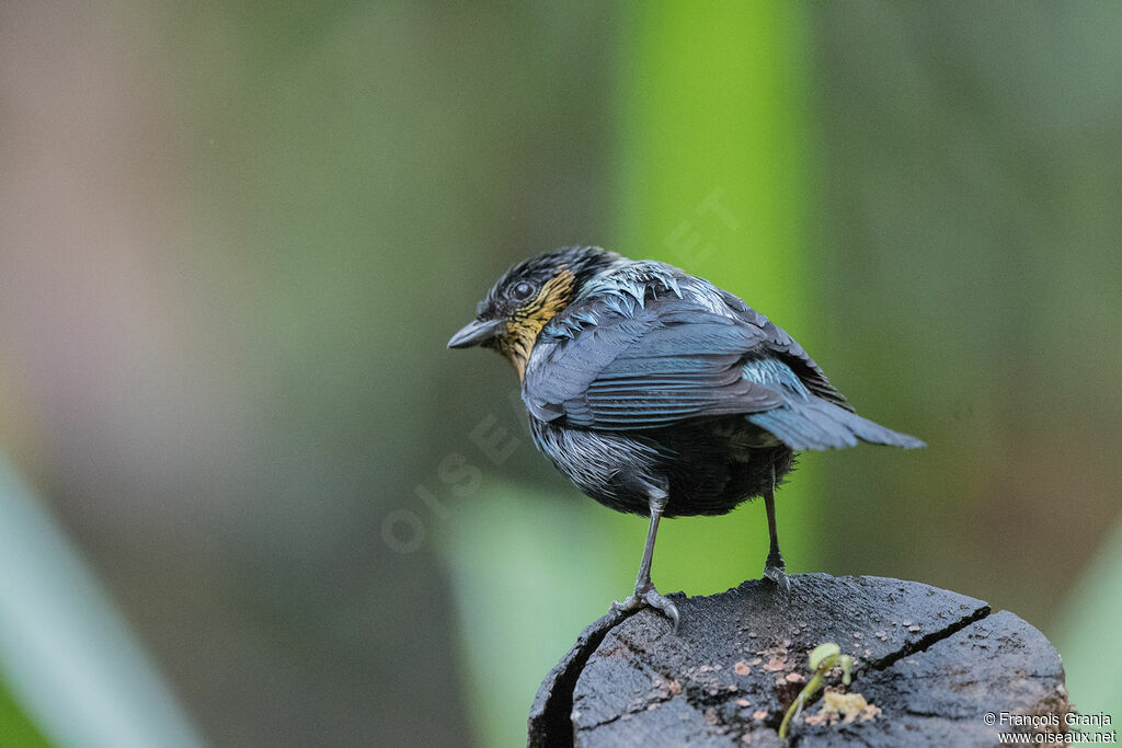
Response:
[[[791,471],[794,453],[743,416],[697,418],[665,428],[573,428],[531,416],[534,444],[600,504],[647,514],[647,489],[664,487],[666,517],[723,515]]]

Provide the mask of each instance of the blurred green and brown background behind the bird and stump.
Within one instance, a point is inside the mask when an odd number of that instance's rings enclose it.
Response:
[[[929,443],[806,455],[791,571],[1010,609],[1119,710],[1120,35],[1105,1],[0,4],[0,741],[523,741],[645,521],[444,343],[563,243],[742,295]],[[665,523],[656,583],[757,576],[765,527]]]

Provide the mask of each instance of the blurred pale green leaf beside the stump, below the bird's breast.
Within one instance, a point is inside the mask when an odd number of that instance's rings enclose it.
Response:
[[[576,492],[576,491],[574,491]],[[619,547],[625,534],[634,543]],[[633,545],[646,520],[500,486],[470,499],[441,533],[462,631],[469,714],[478,745],[526,740],[545,674],[580,630],[631,592]]]

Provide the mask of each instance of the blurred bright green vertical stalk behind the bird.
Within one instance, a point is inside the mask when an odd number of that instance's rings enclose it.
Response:
[[[728,288],[813,350],[804,7],[636,3],[624,24],[611,248]],[[789,571],[820,562],[820,488],[809,458],[776,495]],[[690,594],[735,587],[763,571],[766,539],[761,502],[725,518],[664,523],[655,584]],[[636,564],[642,542],[641,533],[619,537]]]

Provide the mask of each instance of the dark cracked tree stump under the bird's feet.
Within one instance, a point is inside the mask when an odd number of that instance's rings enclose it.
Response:
[[[751,580],[671,595],[677,635],[652,610],[590,625],[542,683],[530,746],[782,746],[783,714],[812,675],[808,655],[826,641],[855,658],[843,690],[871,707],[843,721],[821,711],[818,691],[790,745],[991,746],[1002,731],[1065,731],[1059,655],[1013,613],[918,582],[790,580],[788,594]],[[1055,724],[1019,727],[1002,712]]]

